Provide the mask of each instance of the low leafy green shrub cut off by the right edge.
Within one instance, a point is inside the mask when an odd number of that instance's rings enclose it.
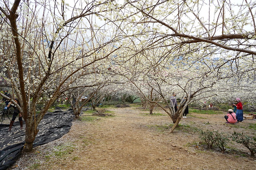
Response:
[[[256,137],[249,137],[243,133],[234,132],[232,134],[232,141],[236,141],[237,143],[244,145],[250,150],[251,156],[254,156],[256,153]]]

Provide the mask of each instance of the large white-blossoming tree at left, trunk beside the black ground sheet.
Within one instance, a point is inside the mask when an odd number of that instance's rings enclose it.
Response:
[[[31,151],[37,126],[53,102],[86,71],[114,55],[115,28],[93,17],[110,1],[2,1],[2,76],[12,84],[26,121],[24,151]],[[72,2],[69,2],[72,3]],[[104,26],[103,26],[104,25]],[[82,29],[81,29],[82,28]],[[75,86],[74,86],[75,88]],[[46,95],[48,98],[46,98]],[[1,94],[3,97],[3,94]],[[36,114],[38,102],[44,102]]]

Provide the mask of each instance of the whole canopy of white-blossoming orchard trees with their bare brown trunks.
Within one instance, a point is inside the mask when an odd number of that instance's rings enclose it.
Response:
[[[156,105],[166,111],[174,123],[171,131],[190,102],[246,94],[248,101],[254,99],[255,5],[247,0],[2,0],[1,76],[20,100],[24,151],[32,150],[38,124],[60,96],[77,101],[120,90],[136,93],[151,111]],[[177,112],[159,104],[172,92],[186,97]],[[88,100],[82,106],[76,101],[70,102],[78,117]],[[39,102],[44,108],[36,115]]]

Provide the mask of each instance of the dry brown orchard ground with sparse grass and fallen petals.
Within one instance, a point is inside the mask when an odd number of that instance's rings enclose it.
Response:
[[[244,131],[254,120],[235,125],[225,124],[224,115],[190,113],[182,119],[174,133],[168,133],[171,120],[164,115],[148,115],[135,107],[108,108],[114,117],[96,121],[74,121],[69,133],[62,138],[36,147],[32,153],[22,154],[16,169],[38,170],[255,170],[256,161],[248,156],[246,148],[232,144],[247,156],[233,152],[204,150],[199,145],[198,129]],[[209,122],[209,123],[208,123]],[[205,124],[208,123],[208,124]],[[256,135],[255,130],[246,133]],[[72,144],[72,147],[70,145]],[[68,145],[60,152],[56,149]],[[59,146],[59,147],[57,147]],[[64,150],[70,149],[64,153]],[[60,155],[58,155],[58,153]],[[62,153],[62,154],[61,154]]]

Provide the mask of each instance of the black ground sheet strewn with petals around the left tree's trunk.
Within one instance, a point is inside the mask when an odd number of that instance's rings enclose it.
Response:
[[[39,132],[34,140],[33,147],[44,145],[59,139],[68,133],[74,120],[72,111],[57,110],[47,113],[38,125]],[[20,123],[16,119],[12,131],[8,132],[9,125],[2,124],[0,131],[0,170],[6,170],[12,166],[20,155],[25,144],[24,129],[20,129]]]

